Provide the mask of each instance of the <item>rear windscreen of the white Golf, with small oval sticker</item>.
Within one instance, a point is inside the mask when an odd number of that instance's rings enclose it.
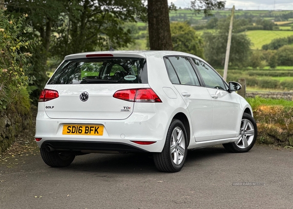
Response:
[[[147,83],[146,59],[136,57],[65,60],[48,84]]]

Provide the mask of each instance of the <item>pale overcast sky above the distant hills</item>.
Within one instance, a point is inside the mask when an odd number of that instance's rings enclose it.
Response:
[[[168,0],[178,8],[188,7],[190,0]],[[244,10],[293,10],[293,0],[226,0],[225,7]]]

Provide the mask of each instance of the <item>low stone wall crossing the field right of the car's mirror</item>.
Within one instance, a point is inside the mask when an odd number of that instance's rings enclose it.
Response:
[[[263,98],[285,99],[293,101],[293,92],[254,92],[246,91],[246,97],[260,96]]]

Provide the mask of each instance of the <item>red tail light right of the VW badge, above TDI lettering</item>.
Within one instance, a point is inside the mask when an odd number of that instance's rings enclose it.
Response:
[[[115,92],[113,97],[130,102],[162,102],[159,96],[150,88],[119,90]]]

